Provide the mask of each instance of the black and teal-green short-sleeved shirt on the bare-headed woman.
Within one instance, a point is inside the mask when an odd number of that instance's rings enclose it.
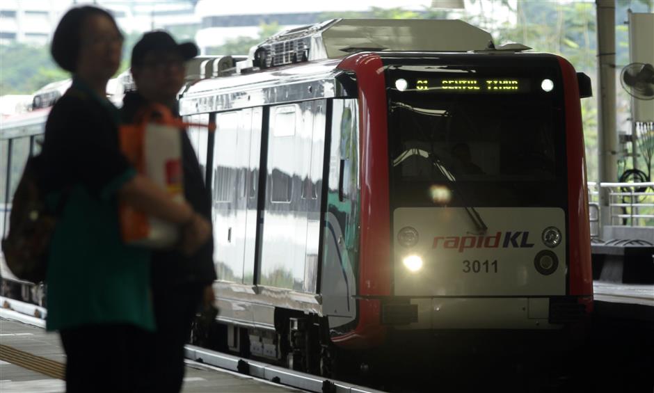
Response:
[[[48,202],[67,199],[50,245],[47,330],[110,323],[154,330],[150,251],[120,237],[116,192],[136,172],[118,149],[116,115],[74,81],[48,118]]]

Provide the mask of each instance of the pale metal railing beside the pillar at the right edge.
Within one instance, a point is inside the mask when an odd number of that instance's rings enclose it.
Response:
[[[600,192],[608,192],[608,225],[654,227],[654,182],[648,183],[596,183],[588,182],[589,218],[591,236],[599,233]]]

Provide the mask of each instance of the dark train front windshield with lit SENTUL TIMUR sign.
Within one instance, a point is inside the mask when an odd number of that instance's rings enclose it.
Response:
[[[552,67],[390,65],[394,207],[566,207]]]

